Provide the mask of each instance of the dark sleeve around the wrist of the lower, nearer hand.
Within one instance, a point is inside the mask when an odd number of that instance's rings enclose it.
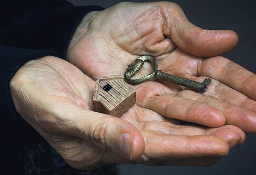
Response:
[[[0,46],[0,131],[4,133],[1,134],[2,144],[5,145],[6,142],[12,143],[12,139],[10,140],[10,138],[18,140],[16,138],[17,136],[28,138],[36,134],[32,127],[26,123],[15,110],[9,84],[13,75],[27,61],[48,55],[60,57],[59,54],[53,50],[27,50]],[[27,135],[28,133],[31,133],[31,135]],[[36,137],[38,137],[38,135]],[[22,140],[22,138],[20,139]]]

